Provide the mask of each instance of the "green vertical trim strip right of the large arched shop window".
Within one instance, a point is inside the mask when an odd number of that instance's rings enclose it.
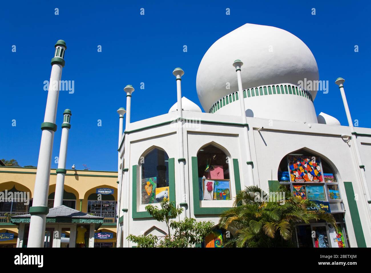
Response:
[[[354,229],[355,240],[357,241],[357,247],[367,247],[365,236],[362,230],[361,218],[359,218],[359,212],[357,207],[357,202],[354,198],[354,189],[352,182],[344,181],[345,194],[347,195],[348,206],[350,211],[350,216],[352,218],[352,225]]]

